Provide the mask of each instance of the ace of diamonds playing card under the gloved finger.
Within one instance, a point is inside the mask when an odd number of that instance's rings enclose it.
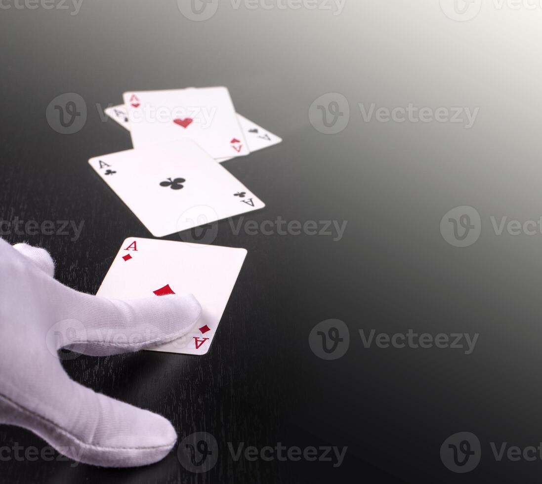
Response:
[[[202,306],[193,331],[152,351],[205,354],[246,255],[245,249],[127,238],[96,295],[135,299],[193,294]]]

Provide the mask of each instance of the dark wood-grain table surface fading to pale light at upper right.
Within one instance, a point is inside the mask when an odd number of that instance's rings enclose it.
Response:
[[[542,235],[497,236],[489,217],[542,215],[542,8],[484,1],[466,22],[429,0],[346,0],[340,15],[235,9],[222,0],[203,22],[173,0],[83,0],[72,11],[0,10],[1,218],[85,221],[77,241],[12,233],[9,242],[46,247],[57,279],[95,293],[121,242],[151,236],[87,164],[131,148],[129,133],[103,120],[100,107],[120,104],[128,90],[189,86],[228,86],[239,113],[284,139],[224,163],[267,204],[246,220],[348,225],[333,241],[234,235],[220,222],[214,244],[244,247],[248,257],[208,354],[64,364],[78,382],[170,418],[179,440],[214,435],[220,456],[210,472],[191,474],[172,453],[127,470],[0,462],[0,481],[538,482],[540,459],[495,462],[489,442],[542,441]],[[85,99],[88,119],[62,135],[46,108],[69,92]],[[338,134],[309,122],[309,107],[326,93],[350,104]],[[480,110],[467,130],[365,122],[358,103]],[[482,220],[467,248],[440,232],[443,215],[459,205]],[[325,361],[308,335],[330,318],[346,323],[351,340],[344,357]],[[470,355],[365,349],[362,328],[480,336]],[[482,444],[480,465],[463,475],[440,459],[442,442],[459,431]],[[0,444],[14,442],[46,445],[0,427]],[[234,462],[227,442],[349,451],[338,468]]]

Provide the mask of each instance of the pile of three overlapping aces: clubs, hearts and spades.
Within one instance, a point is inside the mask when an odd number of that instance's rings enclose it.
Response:
[[[155,237],[265,206],[219,163],[282,140],[236,114],[227,88],[128,92],[105,112],[134,149],[89,163]]]

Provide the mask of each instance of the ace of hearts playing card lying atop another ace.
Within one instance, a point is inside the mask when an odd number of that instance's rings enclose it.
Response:
[[[249,153],[225,87],[124,93],[134,148],[191,139],[212,158]]]

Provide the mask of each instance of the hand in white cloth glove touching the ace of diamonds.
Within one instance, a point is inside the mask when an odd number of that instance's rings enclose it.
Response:
[[[27,428],[61,454],[96,466],[163,459],[177,441],[170,422],[75,383],[57,351],[105,356],[175,340],[196,324],[198,301],[191,294],[109,300],[53,276],[46,250],[0,239],[0,423]]]

